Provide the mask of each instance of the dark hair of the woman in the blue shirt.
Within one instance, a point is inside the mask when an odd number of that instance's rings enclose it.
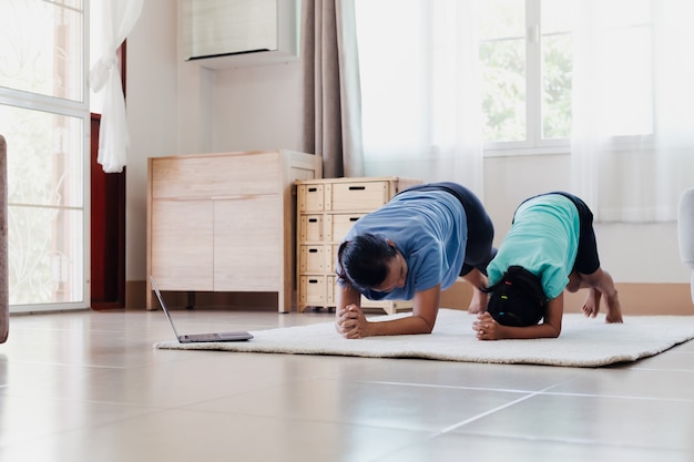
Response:
[[[337,277],[357,290],[380,286],[388,275],[388,261],[397,250],[384,236],[365,233],[345,240],[337,250]]]

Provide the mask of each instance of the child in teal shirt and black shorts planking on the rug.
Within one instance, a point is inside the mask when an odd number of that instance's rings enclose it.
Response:
[[[622,322],[614,283],[600,267],[593,214],[571,194],[524,201],[487,271],[489,305],[472,326],[482,340],[559,337],[564,288],[588,289],[583,312],[593,318],[604,296],[605,321]]]

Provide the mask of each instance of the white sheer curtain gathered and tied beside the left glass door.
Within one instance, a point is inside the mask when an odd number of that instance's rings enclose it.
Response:
[[[101,44],[101,50],[98,50],[99,59],[90,72],[89,84],[92,91],[104,92],[96,160],[106,173],[122,172],[127,158],[130,137],[125,99],[115,52],[137,22],[143,2],[98,0],[92,3],[95,8],[92,31],[101,35],[94,40]]]

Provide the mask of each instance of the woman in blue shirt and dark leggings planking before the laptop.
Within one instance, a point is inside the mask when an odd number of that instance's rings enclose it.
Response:
[[[359,218],[339,246],[336,329],[345,338],[429,333],[441,290],[460,276],[473,285],[470,312],[487,306],[493,226],[474,194],[456,183],[410,187]],[[412,300],[412,316],[369,322],[361,295]]]

